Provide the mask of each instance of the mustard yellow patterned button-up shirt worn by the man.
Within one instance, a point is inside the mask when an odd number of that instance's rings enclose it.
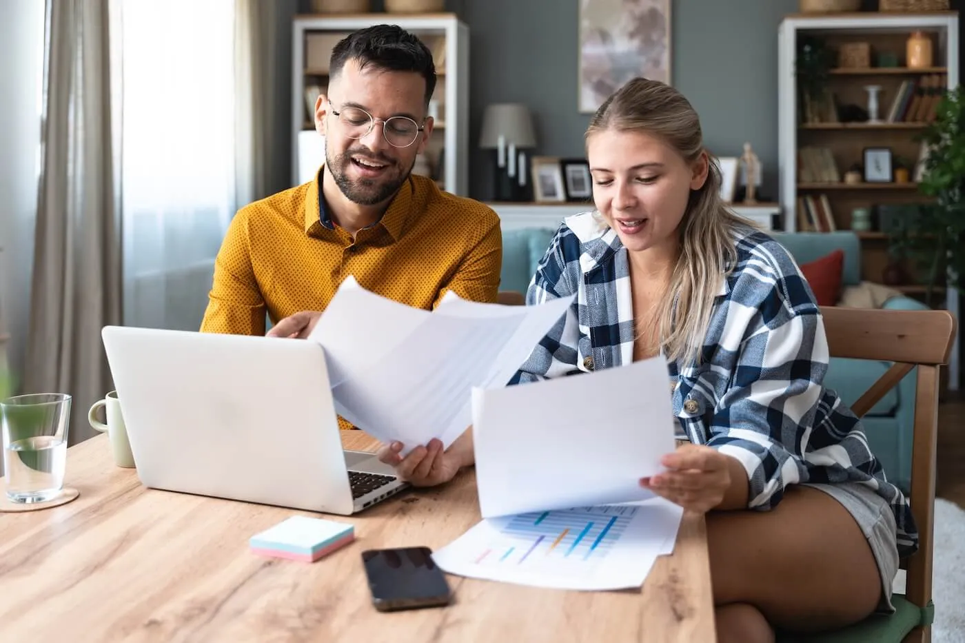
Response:
[[[493,210],[413,175],[353,241],[319,206],[320,176],[237,211],[215,260],[202,332],[263,335],[265,313],[276,323],[324,310],[349,274],[426,310],[446,291],[496,300],[503,239]]]

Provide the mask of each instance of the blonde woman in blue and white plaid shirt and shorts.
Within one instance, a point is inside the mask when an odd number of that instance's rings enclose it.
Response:
[[[512,383],[664,354],[689,441],[641,485],[707,512],[721,641],[893,611],[914,521],[822,385],[827,342],[800,270],[721,203],[698,116],[673,88],[630,81],[586,143],[596,211],[565,220],[527,294],[577,298]],[[398,446],[383,459],[416,484],[472,461],[471,432],[446,452],[430,443],[402,460]]]

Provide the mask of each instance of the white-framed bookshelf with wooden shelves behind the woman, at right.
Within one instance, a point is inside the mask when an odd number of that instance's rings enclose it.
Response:
[[[931,44],[927,67],[908,66],[907,42],[916,32]],[[813,55],[815,49],[806,50],[815,42],[827,52],[823,60]],[[852,230],[852,212],[869,211],[870,226],[856,230],[862,278],[882,283],[892,261],[889,231],[905,216],[901,207],[927,200],[916,184],[923,152],[917,136],[938,98],[959,83],[958,13],[788,15],[778,30],[778,46],[784,228]],[[879,122],[869,122],[872,111]],[[896,171],[899,162],[905,171]],[[915,297],[924,293],[916,275],[908,282],[893,288]],[[944,306],[958,316],[953,289],[944,291]],[[956,357],[957,349],[949,373],[953,389]]]

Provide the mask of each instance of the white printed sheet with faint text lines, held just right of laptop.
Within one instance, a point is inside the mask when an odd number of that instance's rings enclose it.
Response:
[[[399,440],[403,454],[433,437],[448,447],[472,422],[473,387],[505,385],[571,302],[440,305],[376,363],[333,386],[336,408],[379,440]]]

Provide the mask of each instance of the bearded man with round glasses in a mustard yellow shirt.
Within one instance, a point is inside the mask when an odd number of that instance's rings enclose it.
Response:
[[[397,26],[332,51],[315,125],[325,163],[312,182],[248,205],[218,253],[203,332],[306,337],[348,275],[423,309],[446,291],[496,300],[502,235],[493,210],[411,174],[432,133],[432,55]],[[347,423],[343,424],[347,427]]]

